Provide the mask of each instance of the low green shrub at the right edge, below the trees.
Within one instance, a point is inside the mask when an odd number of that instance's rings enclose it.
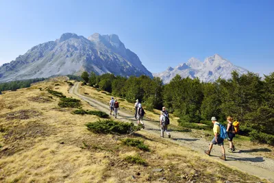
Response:
[[[258,132],[257,130],[252,130],[249,133],[249,136],[250,141],[252,142],[274,145],[274,135],[264,134],[262,132]]]

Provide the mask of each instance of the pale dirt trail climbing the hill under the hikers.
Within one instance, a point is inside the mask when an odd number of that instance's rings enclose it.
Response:
[[[86,97],[78,93],[79,82],[75,83],[69,89],[69,93],[75,95],[82,100],[88,102],[90,106],[97,108],[103,112],[109,113],[109,107],[107,103],[102,103],[101,101],[97,101],[96,99],[92,99],[91,97]],[[131,112],[127,112],[125,110],[119,110],[119,116],[117,119],[121,121],[133,121],[136,123],[136,119]],[[160,130],[158,125],[155,122],[150,121],[149,119],[145,119],[145,130],[160,137]],[[189,147],[195,151],[201,152],[204,154],[203,151],[208,149],[209,142],[203,138],[193,138],[190,136],[190,133],[184,132],[177,132],[173,130],[171,132],[171,138],[164,138],[166,141],[171,141],[173,143],[177,143],[178,145],[182,145],[185,147]],[[227,149],[226,149],[227,150]],[[229,164],[230,167],[236,167],[241,171],[245,171],[251,175],[256,175],[259,178],[264,178],[269,180],[270,182],[274,182],[274,160],[271,158],[264,158],[264,157],[256,157],[251,154],[247,153],[234,153],[229,154],[227,153],[227,161],[223,161],[219,159],[221,156],[221,149],[220,147],[214,146],[212,149],[212,158],[215,160],[219,160],[225,164]],[[204,155],[206,156],[206,155]]]

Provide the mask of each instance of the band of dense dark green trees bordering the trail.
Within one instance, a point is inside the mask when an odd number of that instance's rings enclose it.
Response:
[[[274,145],[274,73],[262,79],[256,73],[205,83],[199,78],[173,77],[163,84],[159,77],[121,77],[110,73],[82,73],[84,84],[101,88],[129,102],[142,101],[147,110],[166,106],[179,117],[180,124],[206,123],[217,117],[221,123],[227,116],[240,121],[240,130],[253,141]],[[251,139],[251,140],[252,140]]]

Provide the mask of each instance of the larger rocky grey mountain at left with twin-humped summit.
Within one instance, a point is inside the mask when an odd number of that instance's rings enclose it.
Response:
[[[136,53],[125,48],[115,34],[92,34],[88,38],[73,33],[62,34],[55,40],[29,49],[23,56],[0,67],[0,82],[24,80],[53,75],[79,75],[94,71],[101,75],[113,73],[148,75]]]

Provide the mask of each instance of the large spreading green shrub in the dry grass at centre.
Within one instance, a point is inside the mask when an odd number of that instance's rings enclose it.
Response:
[[[131,132],[140,130],[140,127],[134,126],[134,123],[123,123],[111,119],[87,123],[86,127],[88,127],[90,132],[97,134],[130,134]]]

